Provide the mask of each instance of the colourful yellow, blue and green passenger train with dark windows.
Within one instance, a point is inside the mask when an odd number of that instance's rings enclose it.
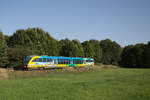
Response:
[[[47,69],[82,66],[94,66],[94,59],[61,56],[27,56],[24,59],[24,68],[26,69]]]

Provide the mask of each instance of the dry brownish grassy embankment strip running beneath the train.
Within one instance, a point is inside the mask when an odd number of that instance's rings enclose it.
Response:
[[[68,67],[68,68],[53,68],[43,70],[14,70],[7,68],[0,68],[0,79],[23,79],[32,77],[43,77],[51,73],[81,73],[81,72],[92,72],[102,69],[114,69],[119,68],[113,65],[95,65],[94,67]]]

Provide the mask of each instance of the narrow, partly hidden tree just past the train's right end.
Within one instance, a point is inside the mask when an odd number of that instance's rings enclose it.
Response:
[[[97,63],[101,63],[102,62],[102,49],[100,47],[99,41],[98,40],[90,40],[89,41],[93,47],[94,47],[94,60]]]

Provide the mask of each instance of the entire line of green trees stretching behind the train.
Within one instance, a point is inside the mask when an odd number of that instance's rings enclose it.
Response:
[[[148,68],[150,42],[122,48],[110,39],[58,41],[41,28],[19,29],[11,36],[0,32],[0,67],[21,66],[29,55],[91,57],[95,63]]]

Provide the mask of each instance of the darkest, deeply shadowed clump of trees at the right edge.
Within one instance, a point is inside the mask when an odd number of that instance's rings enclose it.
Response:
[[[123,67],[134,67],[134,68],[145,68],[149,67],[150,59],[150,46],[149,44],[136,44],[129,45],[123,49],[121,55],[121,66]]]

